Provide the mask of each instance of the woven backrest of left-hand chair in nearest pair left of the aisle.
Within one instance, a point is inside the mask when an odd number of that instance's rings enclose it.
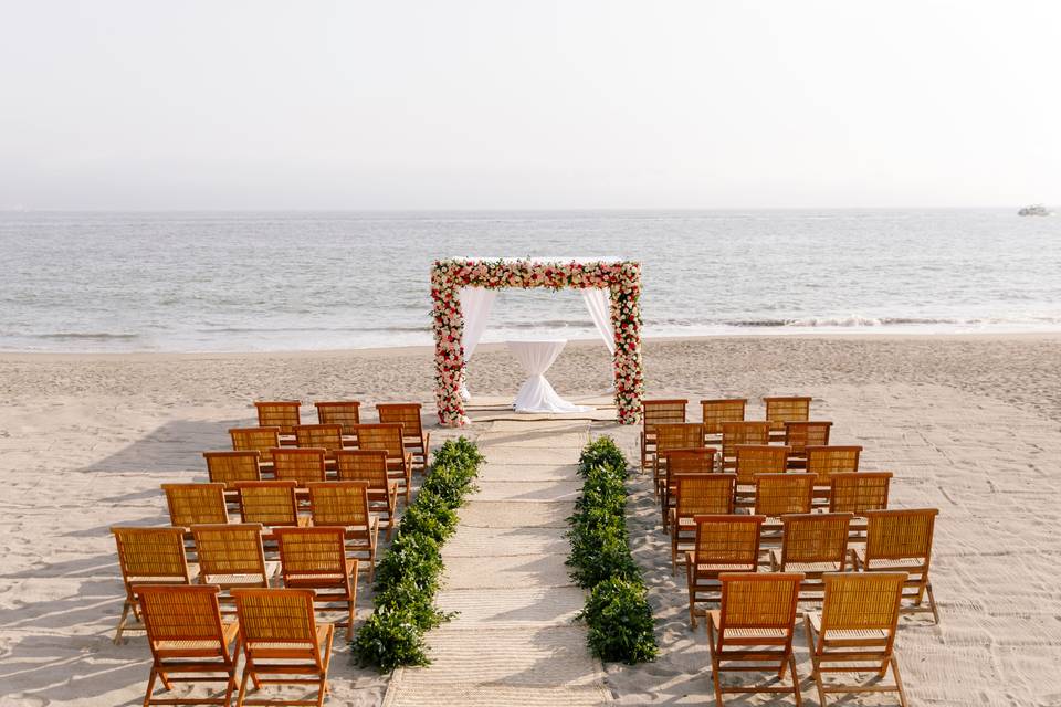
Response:
[[[212,584],[137,588],[147,642],[156,658],[220,657],[225,664],[235,659],[224,640],[220,591]]]

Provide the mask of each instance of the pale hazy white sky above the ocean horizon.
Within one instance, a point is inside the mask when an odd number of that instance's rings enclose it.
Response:
[[[1032,201],[1055,0],[0,0],[0,208]]]

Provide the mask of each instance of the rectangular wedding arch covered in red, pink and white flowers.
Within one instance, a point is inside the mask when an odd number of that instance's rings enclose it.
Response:
[[[431,268],[434,321],[434,394],[439,423],[468,423],[464,384],[464,288],[546,287],[606,289],[614,334],[616,408],[620,424],[641,421],[644,377],[641,369],[641,264],[633,261],[442,260]],[[611,347],[609,347],[611,348]]]

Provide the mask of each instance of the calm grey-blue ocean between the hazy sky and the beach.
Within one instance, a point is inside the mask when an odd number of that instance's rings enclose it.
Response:
[[[0,213],[0,350],[431,342],[452,256],[641,261],[645,336],[1061,330],[1061,218],[1016,210]],[[484,341],[593,338],[505,291]]]

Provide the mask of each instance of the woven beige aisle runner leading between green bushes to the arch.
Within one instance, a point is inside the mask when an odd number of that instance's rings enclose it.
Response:
[[[497,421],[482,429],[480,492],[460,509],[442,550],[438,605],[460,614],[428,634],[430,667],[395,673],[384,705],[609,701],[586,627],[571,623],[585,594],[564,564],[565,518],[580,487],[576,462],[589,423]]]

